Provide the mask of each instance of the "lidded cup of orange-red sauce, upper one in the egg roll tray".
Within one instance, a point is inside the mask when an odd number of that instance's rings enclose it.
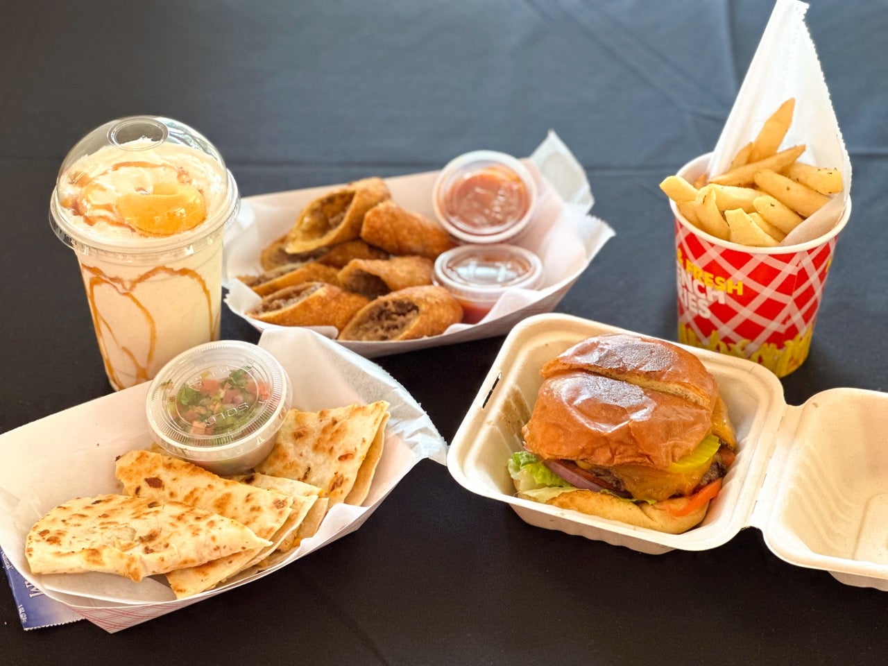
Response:
[[[435,215],[464,242],[497,243],[516,238],[530,224],[536,205],[534,177],[511,155],[476,150],[451,160],[432,190]]]

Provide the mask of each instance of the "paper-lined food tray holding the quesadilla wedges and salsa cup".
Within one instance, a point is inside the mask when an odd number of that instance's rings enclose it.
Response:
[[[33,575],[25,537],[46,511],[77,496],[120,492],[115,456],[147,448],[147,384],[91,400],[0,435],[0,548],[29,583],[108,631],[145,622],[268,575],[353,532],[424,457],[445,462],[447,443],[409,393],[384,369],[309,329],[268,331],[259,345],[293,383],[293,406],[316,411],[387,400],[385,448],[362,506],[337,504],[318,532],[289,557],[259,573],[242,574],[186,599],[175,599],[163,576],[132,583],[110,574]]]

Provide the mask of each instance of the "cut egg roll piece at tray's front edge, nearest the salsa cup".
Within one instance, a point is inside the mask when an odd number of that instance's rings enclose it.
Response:
[[[335,326],[345,328],[368,300],[326,282],[305,282],[263,298],[247,314],[281,326]]]

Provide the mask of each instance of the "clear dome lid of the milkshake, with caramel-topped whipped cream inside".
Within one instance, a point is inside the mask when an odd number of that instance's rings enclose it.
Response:
[[[82,252],[176,258],[212,242],[239,207],[234,177],[208,139],[171,118],[136,115],[99,126],[67,154],[50,223]]]

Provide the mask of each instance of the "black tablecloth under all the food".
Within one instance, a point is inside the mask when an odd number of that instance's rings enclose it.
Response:
[[[434,170],[481,147],[527,155],[554,129],[588,174],[593,213],[616,231],[558,311],[675,339],[673,232],[657,184],[714,146],[772,6],[0,3],[0,430],[111,391],[74,253],[47,207],[70,147],[123,115],[199,129],[243,195]],[[888,3],[815,0],[807,22],[852,156],[854,207],[810,356],[782,380],[789,404],[888,384]],[[258,340],[228,311],[222,336]],[[377,362],[450,440],[502,342]],[[0,616],[0,662],[11,665],[881,664],[888,654],[884,592],[790,566],[756,528],[710,551],[643,555],[530,527],[430,461],[354,534],[121,633],[89,622],[26,633],[5,585]]]

